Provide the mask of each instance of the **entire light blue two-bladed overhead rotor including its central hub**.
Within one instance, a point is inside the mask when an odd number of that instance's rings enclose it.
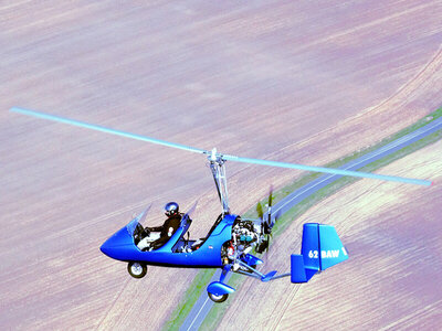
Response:
[[[30,109],[12,107],[10,109],[11,113],[28,115],[36,118],[42,118],[51,121],[63,122],[75,127],[82,127],[91,130],[102,131],[105,134],[122,136],[126,138],[131,138],[136,140],[147,141],[151,143],[162,145],[167,147],[172,147],[181,150],[187,150],[196,153],[207,154],[213,161],[234,161],[234,162],[243,162],[243,163],[252,163],[252,164],[261,164],[261,166],[271,166],[271,167],[280,167],[280,168],[287,168],[287,169],[298,169],[305,171],[314,171],[314,172],[323,172],[323,173],[330,173],[330,174],[338,174],[338,175],[350,175],[350,177],[359,177],[359,178],[369,178],[369,179],[377,179],[383,181],[393,181],[393,182],[402,182],[408,184],[417,184],[417,185],[425,185],[429,186],[432,184],[431,181],[420,180],[420,179],[410,179],[410,178],[402,178],[402,177],[394,177],[394,175],[383,175],[377,173],[369,173],[369,172],[359,172],[359,171],[351,171],[345,169],[334,169],[334,168],[324,168],[324,167],[313,167],[313,166],[304,166],[297,163],[286,163],[286,162],[277,162],[277,161],[270,161],[270,160],[260,160],[260,159],[250,159],[250,158],[240,158],[236,156],[230,154],[222,154],[217,152],[217,150],[208,151],[199,148],[193,148],[186,145],[173,143],[160,139],[155,139],[141,135],[129,134],[125,131],[119,131],[97,125],[87,124],[84,121],[78,121],[70,118],[64,118],[55,115],[50,115],[41,111],[34,111]]]

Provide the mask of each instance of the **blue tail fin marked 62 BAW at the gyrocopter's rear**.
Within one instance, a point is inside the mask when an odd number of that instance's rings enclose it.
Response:
[[[317,271],[348,258],[347,250],[332,225],[306,223],[301,255],[292,255],[292,282],[306,282]]]

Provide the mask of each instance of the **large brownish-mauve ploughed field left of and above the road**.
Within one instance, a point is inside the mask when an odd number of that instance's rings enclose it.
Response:
[[[373,2],[0,3],[0,325],[158,329],[196,270],[135,280],[99,245],[150,202],[200,199],[192,237],[220,212],[202,157],[10,107],[323,164],[441,105],[440,1]],[[298,174],[229,163],[232,210]]]

